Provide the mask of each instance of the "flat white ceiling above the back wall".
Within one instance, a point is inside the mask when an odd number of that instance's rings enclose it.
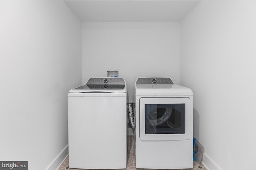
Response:
[[[64,0],[81,21],[181,21],[201,0]]]

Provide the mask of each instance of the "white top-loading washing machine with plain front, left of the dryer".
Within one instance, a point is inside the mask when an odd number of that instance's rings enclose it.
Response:
[[[69,168],[126,168],[126,138],[123,78],[90,78],[68,92]]]

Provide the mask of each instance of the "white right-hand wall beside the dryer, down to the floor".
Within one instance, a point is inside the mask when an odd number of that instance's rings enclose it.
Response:
[[[256,169],[256,1],[202,0],[181,23],[180,83],[209,170]]]

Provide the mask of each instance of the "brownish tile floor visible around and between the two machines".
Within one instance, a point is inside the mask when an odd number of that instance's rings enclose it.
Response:
[[[150,169],[136,169],[135,164],[135,153],[134,153],[134,136],[130,135],[128,136],[128,152],[127,152],[127,168],[125,170],[150,170]],[[81,169],[73,169],[68,167],[68,157],[62,165],[58,168],[58,170],[81,170]],[[194,166],[193,169],[183,169],[183,170],[206,170],[202,164],[199,164],[197,166]]]

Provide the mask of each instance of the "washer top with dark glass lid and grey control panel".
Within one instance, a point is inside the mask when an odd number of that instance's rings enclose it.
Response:
[[[85,85],[69,93],[126,93],[126,82],[124,78],[90,78]]]

